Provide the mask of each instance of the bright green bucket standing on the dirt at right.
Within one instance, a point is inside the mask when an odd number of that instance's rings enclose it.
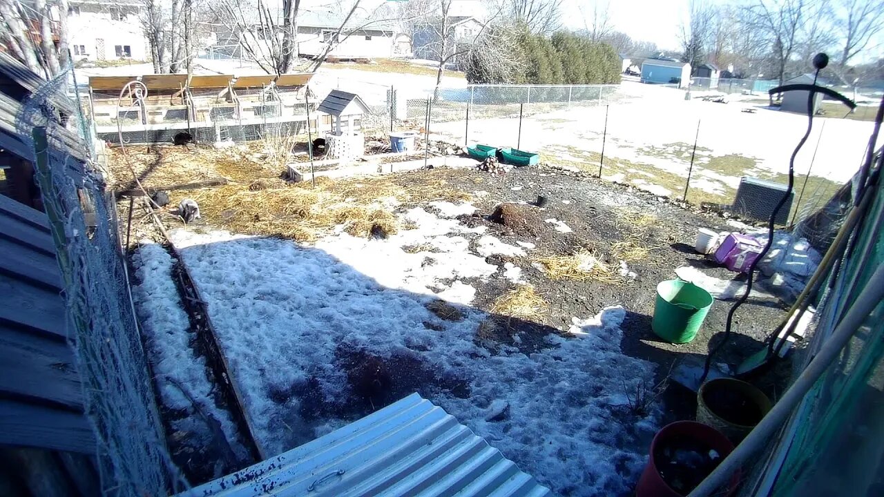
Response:
[[[651,328],[661,339],[673,343],[694,340],[713,301],[709,292],[688,281],[661,281]]]

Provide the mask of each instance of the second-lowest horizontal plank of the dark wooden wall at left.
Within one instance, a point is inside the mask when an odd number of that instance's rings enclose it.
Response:
[[[80,375],[71,347],[62,340],[0,325],[0,393],[83,410]]]

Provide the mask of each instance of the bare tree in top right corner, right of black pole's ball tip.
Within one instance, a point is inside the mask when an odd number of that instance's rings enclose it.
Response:
[[[841,57],[838,65],[843,70],[850,59],[870,47],[884,29],[884,2],[881,0],[839,0],[836,2],[835,27],[841,37]]]

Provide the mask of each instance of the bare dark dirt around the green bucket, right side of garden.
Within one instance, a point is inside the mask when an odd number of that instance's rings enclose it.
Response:
[[[647,256],[628,263],[629,271],[635,271],[636,278],[616,284],[592,279],[552,280],[530,262],[513,259],[522,267],[523,278],[550,302],[542,324],[567,329],[571,317],[594,314],[607,305],[621,304],[627,310],[621,348],[630,356],[657,363],[659,381],[665,380],[667,373],[684,357],[705,357],[723,338],[728,310],[733,302],[716,300],[697,338],[690,343],[671,344],[659,339],[651,330],[656,286],[665,279],[675,279],[675,268],[692,265],[721,279],[744,279],[742,275],[717,267],[718,264],[706,260],[693,249],[697,226],[720,231],[734,229],[719,215],[685,204],[670,203],[634,187],[599,181],[585,173],[552,168],[516,168],[503,176],[452,170],[449,182],[453,187],[488,192],[481,196],[474,194],[478,210],[464,221],[489,226],[490,233],[501,241],[515,243],[516,237],[506,226],[487,218],[494,206],[500,202],[534,203],[537,195],[543,195],[548,203],[541,217],[564,221],[574,231],[558,233],[547,224],[549,228],[532,240],[538,252],[559,255],[586,247],[600,257],[607,256],[610,264],[617,264],[611,253],[618,242],[633,240],[649,249]],[[525,240],[524,233],[520,233],[518,239]],[[474,305],[483,310],[489,310],[500,294],[512,288],[501,285],[499,280],[477,280],[471,284],[477,289]],[[785,314],[784,304],[778,301],[751,299],[743,304],[735,315],[735,333],[715,356],[714,363],[730,367],[739,364],[761,348],[773,324]],[[774,371],[765,373],[766,377],[754,378],[754,382],[775,399],[784,386],[786,371],[788,364],[781,363]],[[683,386],[668,383],[664,398],[672,419],[692,417],[696,409],[694,395]]]

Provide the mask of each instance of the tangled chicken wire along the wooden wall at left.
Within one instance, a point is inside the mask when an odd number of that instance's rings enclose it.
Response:
[[[165,447],[118,241],[115,204],[104,192],[95,164],[72,167],[80,159],[52,140],[63,127],[85,138],[82,114],[59,116],[55,106],[71,100],[71,77],[69,69],[29,96],[17,127],[34,149],[29,158],[56,242],[65,282],[66,333],[97,440],[103,494],[177,492],[187,483]],[[47,136],[53,145],[46,144]],[[80,167],[85,170],[81,176],[75,172]]]

